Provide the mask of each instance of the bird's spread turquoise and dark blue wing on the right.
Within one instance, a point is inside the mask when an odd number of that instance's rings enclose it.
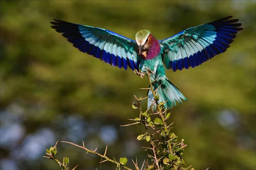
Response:
[[[182,70],[200,66],[230,47],[242,24],[239,19],[225,17],[192,27],[172,37],[160,40],[161,55],[166,69]]]

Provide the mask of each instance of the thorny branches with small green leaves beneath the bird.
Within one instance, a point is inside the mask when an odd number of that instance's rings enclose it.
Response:
[[[150,87],[144,88],[144,89],[151,90],[154,96],[154,103],[145,112],[143,112],[140,104],[141,102],[143,102],[143,100],[147,99],[148,97],[137,98],[136,95],[134,95],[134,98],[136,99],[137,104],[133,102],[132,108],[140,110],[140,118],[136,117],[135,119],[129,119],[129,120],[135,121],[135,123],[123,125],[123,126],[131,126],[135,124],[140,124],[140,125],[143,124],[145,127],[145,133],[142,135],[139,135],[137,137],[137,140],[140,141],[145,139],[147,142],[149,142],[151,147],[143,147],[143,148],[145,148],[145,150],[149,150],[148,159],[151,162],[153,162],[153,164],[151,165],[148,164],[149,163],[148,160],[145,163],[145,160],[144,160],[141,170],[152,170],[155,168],[157,170],[163,170],[164,167],[167,167],[168,169],[171,169],[171,170],[194,170],[194,168],[192,168],[192,165],[186,168],[185,161],[181,157],[181,155],[183,155],[184,148],[187,146],[186,144],[183,143],[184,139],[182,139],[181,141],[178,141],[177,140],[178,137],[172,132],[172,127],[171,127],[172,124],[169,124],[169,125],[166,124],[166,121],[170,118],[170,112],[167,113],[167,109],[165,110],[163,109],[163,106],[164,106],[163,102],[160,102],[160,103],[158,102],[159,96],[156,95],[157,89],[154,90],[153,84],[152,84],[154,81],[151,82],[151,78],[150,78],[151,74],[154,74],[154,73],[150,69],[148,69],[146,73],[139,73],[138,75],[142,75],[142,74],[143,75],[146,74],[148,77]],[[160,88],[160,86],[158,88]],[[157,106],[157,112],[154,112],[153,110],[154,105]],[[153,113],[149,114],[148,111],[150,111],[151,109]],[[154,119],[154,123],[151,121],[152,115],[158,115]],[[152,128],[154,130],[153,134],[149,132],[148,130],[149,128]],[[159,139],[155,138],[157,135],[159,135]],[[126,157],[120,158],[119,162],[117,162],[114,157],[113,157],[114,159],[110,159],[106,156],[108,145],[106,147],[104,155],[101,155],[100,153],[96,152],[97,148],[95,150],[87,149],[84,146],[84,141],[83,141],[83,146],[79,146],[77,144],[73,144],[67,141],[62,141],[62,142],[72,144],[76,147],[86,150],[87,153],[92,153],[105,159],[103,161],[100,161],[100,163],[105,161],[110,161],[116,164],[116,170],[120,170],[121,167],[126,170],[131,170],[131,168],[128,168],[126,166],[128,161]],[[47,156],[44,156],[44,157],[53,159],[55,162],[57,162],[60,165],[60,167],[62,167],[62,169],[69,170],[70,168],[67,167],[67,164],[69,163],[69,158],[67,157],[63,158],[63,163],[61,163],[60,161],[58,161],[58,159],[55,158],[55,155],[57,154],[57,148],[56,148],[57,143],[55,144],[54,147],[50,147],[49,150],[46,150]],[[136,163],[134,161],[133,163],[136,170],[140,170],[137,162],[137,158],[136,158]],[[145,164],[145,167],[144,167],[144,164]],[[75,168],[73,168],[72,170],[74,169]]]

